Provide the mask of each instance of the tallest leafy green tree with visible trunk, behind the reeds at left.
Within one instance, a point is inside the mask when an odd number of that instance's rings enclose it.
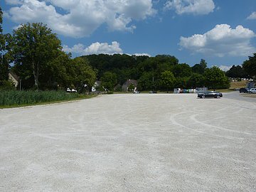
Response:
[[[13,34],[13,58],[16,73],[22,79],[33,77],[34,86],[38,89],[47,63],[58,57],[61,42],[43,23],[21,25]],[[46,75],[46,74],[44,74]]]

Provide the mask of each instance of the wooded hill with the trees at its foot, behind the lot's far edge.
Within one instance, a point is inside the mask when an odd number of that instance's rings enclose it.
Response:
[[[206,60],[193,65],[178,63],[171,55],[136,56],[136,55],[84,55],[80,58],[89,60],[97,70],[97,79],[110,82],[105,85],[114,90],[129,79],[137,80],[139,90],[166,90],[174,87],[210,89],[228,88],[230,83],[225,72],[213,66],[207,68]],[[118,90],[118,88],[117,88]]]

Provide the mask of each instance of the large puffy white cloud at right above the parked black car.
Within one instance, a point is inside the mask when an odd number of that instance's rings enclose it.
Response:
[[[190,50],[191,53],[218,57],[247,56],[256,51],[250,43],[255,36],[253,31],[243,26],[233,29],[228,24],[221,24],[204,34],[195,34],[188,38],[181,36],[179,45]]]

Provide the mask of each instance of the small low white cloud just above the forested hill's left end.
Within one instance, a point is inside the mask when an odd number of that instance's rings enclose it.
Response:
[[[63,46],[65,52],[76,53],[78,55],[91,55],[91,54],[109,54],[113,55],[114,53],[122,54],[122,48],[117,41],[113,41],[112,44],[108,43],[92,43],[90,46],[85,47],[83,44],[78,43],[77,45],[69,48],[68,46]]]

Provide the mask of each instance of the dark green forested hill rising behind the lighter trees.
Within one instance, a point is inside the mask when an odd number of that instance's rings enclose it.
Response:
[[[149,76],[149,73],[150,79],[152,77],[157,79],[162,72],[172,70],[174,65],[178,65],[178,59],[171,55],[149,57],[146,55],[100,54],[85,55],[81,58],[89,60],[92,68],[97,70],[99,80],[104,73],[112,72],[117,75],[117,81],[120,85],[127,79],[139,80],[142,76]],[[189,65],[187,67],[189,68]]]

